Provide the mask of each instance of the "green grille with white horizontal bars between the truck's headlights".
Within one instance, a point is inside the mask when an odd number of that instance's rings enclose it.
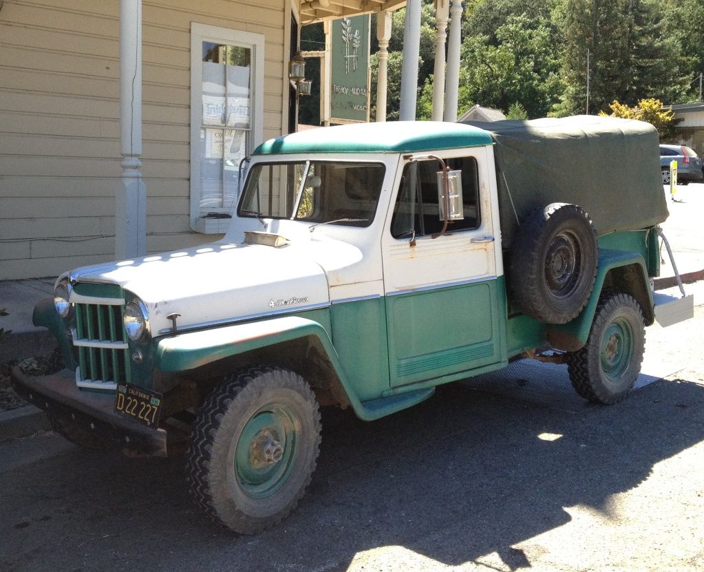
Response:
[[[125,305],[115,299],[93,298],[75,304],[76,328],[73,345],[78,349],[76,384],[94,389],[115,389],[119,381],[130,381],[127,337],[122,327]]]

